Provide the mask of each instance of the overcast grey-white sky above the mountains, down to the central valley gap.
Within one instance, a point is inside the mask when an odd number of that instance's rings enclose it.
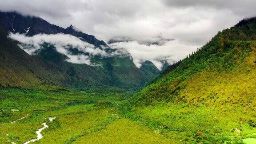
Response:
[[[179,60],[223,28],[256,16],[255,6],[256,0],[0,0],[0,11],[40,16],[64,28],[72,24],[105,42],[132,38],[113,46],[128,49],[137,61]],[[175,40],[140,42],[159,37]]]

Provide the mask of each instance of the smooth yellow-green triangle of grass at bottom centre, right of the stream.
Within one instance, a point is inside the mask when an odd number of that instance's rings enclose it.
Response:
[[[145,127],[128,119],[118,119],[104,130],[80,137],[77,144],[172,144],[174,141],[157,134],[153,128]]]

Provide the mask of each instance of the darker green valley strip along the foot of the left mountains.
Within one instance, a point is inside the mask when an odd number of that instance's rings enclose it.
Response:
[[[49,92],[18,89],[0,89],[0,122],[11,122],[28,114],[38,114],[76,104],[93,104],[99,100],[116,101],[121,94],[97,94],[83,92]],[[16,108],[19,112],[9,112]],[[4,111],[3,110],[8,110]]]

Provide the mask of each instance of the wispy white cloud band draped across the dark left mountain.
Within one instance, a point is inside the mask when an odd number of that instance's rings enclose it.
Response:
[[[100,55],[105,57],[114,55],[112,53],[107,53],[100,48],[96,48],[94,45],[88,44],[75,36],[61,33],[55,35],[38,34],[35,36],[11,33],[9,37],[13,40],[19,41],[21,43],[20,48],[29,55],[36,54],[36,51],[40,50],[44,43],[52,44],[56,48],[57,52],[68,57],[68,62],[75,64],[93,65],[90,60],[92,56]],[[89,55],[72,55],[72,53],[68,51],[69,48],[77,48],[80,52],[88,53]]]

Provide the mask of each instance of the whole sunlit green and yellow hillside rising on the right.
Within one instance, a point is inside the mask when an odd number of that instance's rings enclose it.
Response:
[[[255,76],[256,18],[251,18],[171,65],[132,97],[128,116],[189,143],[254,137]]]

